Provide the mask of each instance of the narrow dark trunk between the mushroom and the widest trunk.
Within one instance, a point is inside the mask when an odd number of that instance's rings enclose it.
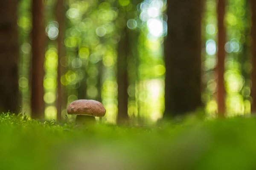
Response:
[[[125,27],[121,34],[118,44],[117,56],[117,91],[118,91],[118,115],[117,122],[125,123],[128,120],[128,73],[127,73],[127,55],[128,55],[128,31]]]

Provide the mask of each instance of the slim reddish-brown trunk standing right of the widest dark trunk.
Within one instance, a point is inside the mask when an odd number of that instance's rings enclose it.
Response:
[[[218,1],[218,91],[217,91],[217,103],[218,103],[218,117],[225,117],[225,87],[224,87],[224,62],[225,62],[225,43],[226,43],[226,31],[224,27],[224,15],[225,15],[225,0]]]

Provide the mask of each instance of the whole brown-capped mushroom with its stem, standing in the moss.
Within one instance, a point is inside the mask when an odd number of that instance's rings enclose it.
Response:
[[[105,116],[106,109],[101,102],[96,100],[80,99],[71,102],[67,107],[67,113],[76,116],[76,123],[95,123],[95,117]]]

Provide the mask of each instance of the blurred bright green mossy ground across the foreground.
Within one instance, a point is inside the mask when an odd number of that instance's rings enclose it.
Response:
[[[256,119],[76,128],[3,114],[0,169],[254,170]]]

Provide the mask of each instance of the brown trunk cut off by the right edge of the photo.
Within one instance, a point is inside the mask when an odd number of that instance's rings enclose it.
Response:
[[[251,88],[251,96],[253,98],[253,102],[251,104],[251,113],[256,113],[256,1],[250,0],[251,12],[252,12],[252,28],[251,28],[251,37],[252,37],[252,88]]]

